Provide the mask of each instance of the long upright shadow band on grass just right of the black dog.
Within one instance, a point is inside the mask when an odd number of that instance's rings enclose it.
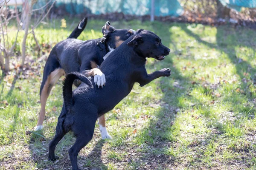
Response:
[[[170,40],[172,33],[169,30],[169,27],[160,26],[162,27],[160,30],[158,29],[158,26],[153,26],[154,33],[160,36],[163,45],[168,46],[166,43],[169,42],[169,46],[172,46],[172,53],[177,54],[177,47],[175,43]],[[172,24],[172,26],[175,26],[175,24]],[[161,37],[161,34],[158,34],[159,31],[161,31],[161,33],[164,32],[165,36]],[[172,75],[170,77],[162,77],[159,80],[154,80],[160,82],[159,89],[163,92],[163,96],[157,103],[157,105],[160,105],[160,109],[156,109],[154,112],[154,119],[149,120],[148,125],[139,132],[139,139],[136,139],[139,140],[139,143],[141,144],[142,155],[143,153],[150,153],[150,157],[143,158],[136,162],[136,167],[139,169],[147,169],[149,167],[151,169],[176,167],[174,164],[175,157],[170,156],[167,153],[168,148],[170,148],[173,145],[173,142],[176,141],[176,134],[172,134],[175,130],[173,125],[175,124],[177,114],[180,114],[183,109],[184,104],[180,99],[184,96],[188,96],[190,91],[196,87],[196,84],[187,84],[187,82],[192,82],[192,80],[189,77],[182,76],[173,62],[172,55],[175,54],[170,54],[162,62],[154,62],[153,65],[147,65],[147,68],[152,68],[154,70],[156,70],[155,68],[157,68],[157,70],[161,68],[170,68],[172,70]],[[191,97],[191,100],[194,104],[187,106],[191,107],[191,109],[198,105],[203,105],[198,99]],[[146,162],[145,166],[145,162],[143,161]]]

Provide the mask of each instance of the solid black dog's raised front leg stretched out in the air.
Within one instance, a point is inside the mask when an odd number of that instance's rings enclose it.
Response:
[[[144,76],[140,77],[138,83],[140,83],[140,86],[143,87],[154,79],[157,79],[159,77],[169,77],[170,75],[171,70],[169,68],[163,68],[162,70],[154,71],[151,74],[144,74]]]

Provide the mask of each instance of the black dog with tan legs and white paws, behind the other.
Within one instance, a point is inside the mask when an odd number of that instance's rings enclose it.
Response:
[[[102,38],[87,41],[75,39],[84,30],[86,24],[87,18],[84,18],[68,39],[58,42],[49,54],[40,88],[41,110],[35,130],[43,128],[47,98],[53,85],[61,76],[78,71],[87,77],[94,76],[94,82],[98,87],[105,85],[105,75],[98,69],[98,66],[113,49],[135,33],[132,29],[116,29],[107,22],[102,28]],[[78,86],[79,82],[74,84]],[[99,127],[102,139],[110,139],[104,116],[99,118]]]

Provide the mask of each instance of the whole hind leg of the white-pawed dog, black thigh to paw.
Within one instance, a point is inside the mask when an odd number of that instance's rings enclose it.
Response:
[[[65,74],[64,70],[62,68],[59,68],[58,63],[57,64],[50,63],[50,65],[48,63],[46,63],[44,68],[43,82],[40,88],[41,110],[39,113],[37,125],[34,128],[35,130],[41,130],[43,128],[45,105],[47,102],[47,98],[50,94],[50,91],[53,85],[55,85],[58,79]]]

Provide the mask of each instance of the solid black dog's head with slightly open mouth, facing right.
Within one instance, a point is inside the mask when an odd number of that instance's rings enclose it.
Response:
[[[161,39],[151,31],[138,29],[132,40],[127,43],[134,51],[143,58],[151,57],[163,60],[169,55],[170,49],[164,46]]]

